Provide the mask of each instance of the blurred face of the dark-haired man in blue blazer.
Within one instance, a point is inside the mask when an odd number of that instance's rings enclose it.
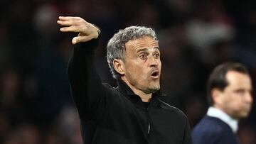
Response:
[[[252,107],[252,82],[247,74],[230,71],[226,74],[228,86],[220,92],[219,106],[233,118],[245,118]]]

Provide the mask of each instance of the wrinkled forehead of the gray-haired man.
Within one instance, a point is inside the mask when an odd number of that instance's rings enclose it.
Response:
[[[144,36],[135,40],[129,40],[125,43],[126,50],[138,50],[142,48],[159,48],[159,43],[154,38]]]

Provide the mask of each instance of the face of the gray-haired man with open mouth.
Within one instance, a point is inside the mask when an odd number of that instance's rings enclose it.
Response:
[[[159,43],[149,36],[125,43],[124,77],[129,86],[145,94],[160,89]]]

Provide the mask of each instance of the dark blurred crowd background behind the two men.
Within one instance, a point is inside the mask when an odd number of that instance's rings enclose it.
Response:
[[[126,26],[154,28],[164,100],[186,113],[193,128],[208,108],[206,80],[216,65],[242,62],[255,89],[255,6],[252,0],[1,0],[0,143],[82,143],[67,75],[76,34],[60,33],[58,16],[80,16],[101,28],[96,67],[113,86],[107,40]],[[254,102],[240,121],[240,143],[255,144],[255,133]]]

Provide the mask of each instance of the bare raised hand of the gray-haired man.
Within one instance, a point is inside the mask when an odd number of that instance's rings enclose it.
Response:
[[[59,16],[57,23],[63,28],[60,28],[62,32],[75,32],[79,33],[78,36],[72,39],[72,43],[87,42],[93,38],[98,38],[100,29],[88,23],[80,17],[74,16]]]

